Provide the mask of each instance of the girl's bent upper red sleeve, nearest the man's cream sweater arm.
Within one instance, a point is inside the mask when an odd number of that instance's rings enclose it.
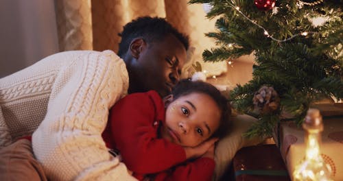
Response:
[[[110,132],[123,162],[135,173],[156,173],[186,160],[185,149],[158,138],[154,122],[164,119],[155,91],[124,97],[110,110]]]

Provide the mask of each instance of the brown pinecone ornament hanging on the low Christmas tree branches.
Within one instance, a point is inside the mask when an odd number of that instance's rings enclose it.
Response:
[[[255,111],[261,114],[273,112],[280,106],[280,97],[271,86],[262,86],[252,98]]]

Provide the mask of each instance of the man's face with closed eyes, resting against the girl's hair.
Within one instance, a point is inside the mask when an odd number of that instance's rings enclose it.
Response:
[[[164,40],[148,43],[141,50],[139,62],[139,92],[156,90],[162,97],[171,93],[171,88],[180,79],[186,61],[186,49],[173,35]]]

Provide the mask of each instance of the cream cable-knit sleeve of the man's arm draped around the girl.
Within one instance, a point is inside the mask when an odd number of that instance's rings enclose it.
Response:
[[[64,65],[32,136],[34,155],[49,180],[135,180],[101,136],[108,109],[128,88],[123,60],[113,51],[67,51],[47,60]]]

